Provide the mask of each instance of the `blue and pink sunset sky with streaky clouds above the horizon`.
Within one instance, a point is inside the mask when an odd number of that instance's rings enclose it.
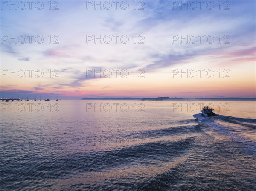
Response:
[[[0,2],[0,98],[256,97],[255,0]]]

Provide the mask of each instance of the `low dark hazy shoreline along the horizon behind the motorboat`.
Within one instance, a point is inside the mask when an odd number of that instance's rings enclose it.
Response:
[[[203,100],[203,98],[170,98],[170,97],[157,97],[157,98],[81,98],[81,100],[141,100],[141,101],[166,101],[166,100],[184,100],[184,101],[196,101]],[[204,98],[204,100],[216,100],[216,101],[256,101],[256,98]]]

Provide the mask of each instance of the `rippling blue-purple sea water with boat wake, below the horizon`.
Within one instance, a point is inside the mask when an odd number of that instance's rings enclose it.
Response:
[[[254,190],[256,102],[1,102],[0,188]]]

